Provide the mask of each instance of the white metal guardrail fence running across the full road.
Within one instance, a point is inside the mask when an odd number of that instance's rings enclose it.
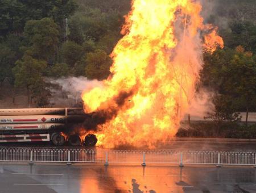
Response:
[[[256,166],[256,152],[194,150],[0,149],[0,162],[146,163]]]

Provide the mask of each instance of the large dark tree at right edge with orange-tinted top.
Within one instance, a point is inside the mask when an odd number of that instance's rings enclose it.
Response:
[[[249,110],[256,109],[256,62],[253,53],[245,52],[239,46],[236,50],[218,50],[212,55],[206,53],[204,62],[201,82],[222,97],[232,98],[236,111],[246,111],[247,127]]]

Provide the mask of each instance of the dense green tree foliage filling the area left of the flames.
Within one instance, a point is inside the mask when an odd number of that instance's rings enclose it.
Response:
[[[44,77],[107,78],[129,10],[127,0],[1,1],[1,86],[26,89],[28,106],[47,106]]]

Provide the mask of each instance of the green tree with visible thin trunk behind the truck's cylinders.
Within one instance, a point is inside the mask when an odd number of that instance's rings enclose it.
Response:
[[[13,68],[16,87],[26,87],[28,106],[31,106],[31,93],[42,85],[43,72],[47,67],[46,61],[36,60],[28,54],[24,54],[21,60],[16,61]],[[39,93],[40,94],[40,93]]]

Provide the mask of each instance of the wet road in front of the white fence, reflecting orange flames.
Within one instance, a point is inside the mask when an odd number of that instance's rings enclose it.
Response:
[[[0,192],[256,192],[253,167],[9,165]]]

